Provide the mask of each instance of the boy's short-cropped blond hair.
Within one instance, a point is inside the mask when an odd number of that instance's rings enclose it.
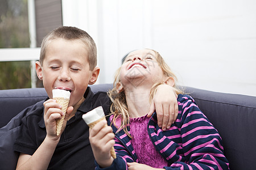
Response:
[[[59,27],[49,32],[47,36],[44,37],[41,44],[40,58],[39,62],[43,66],[44,58],[46,57],[46,50],[49,43],[52,40],[64,39],[64,40],[80,40],[85,44],[86,51],[88,52],[88,62],[90,66],[90,71],[92,71],[97,65],[97,48],[94,40],[90,35],[83,31],[82,29],[76,27]]]

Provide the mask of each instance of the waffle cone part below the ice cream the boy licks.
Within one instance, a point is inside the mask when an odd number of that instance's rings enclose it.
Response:
[[[64,118],[65,118],[65,114],[67,112],[69,100],[64,99],[64,98],[54,98],[54,99],[57,101],[57,103],[59,105],[62,106],[61,111],[64,113],[64,116],[61,116],[61,119],[56,120],[56,134],[60,135],[61,128],[62,128]]]

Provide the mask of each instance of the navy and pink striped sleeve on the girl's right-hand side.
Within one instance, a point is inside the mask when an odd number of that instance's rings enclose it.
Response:
[[[218,131],[200,111],[190,96],[183,96],[179,104],[181,147],[183,162],[176,161],[166,169],[229,169]]]

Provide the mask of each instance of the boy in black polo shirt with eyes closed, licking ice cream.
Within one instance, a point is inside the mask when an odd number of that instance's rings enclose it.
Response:
[[[94,169],[89,128],[81,117],[100,105],[110,113],[106,93],[93,94],[88,87],[100,71],[96,51],[92,37],[75,27],[57,28],[44,38],[36,73],[49,99],[35,104],[22,120],[22,132],[14,144],[20,152],[16,169]],[[59,136],[56,120],[64,114],[52,99],[54,88],[71,92]]]

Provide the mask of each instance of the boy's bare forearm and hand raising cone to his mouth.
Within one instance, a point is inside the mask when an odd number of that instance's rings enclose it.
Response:
[[[69,107],[65,115],[64,126],[67,124],[68,117],[72,111],[73,107]],[[61,115],[63,115],[61,107],[55,100],[49,99],[44,102],[46,138],[32,156],[20,154],[16,169],[47,169],[57,143],[60,141],[60,135],[56,135],[56,119],[60,118]]]

